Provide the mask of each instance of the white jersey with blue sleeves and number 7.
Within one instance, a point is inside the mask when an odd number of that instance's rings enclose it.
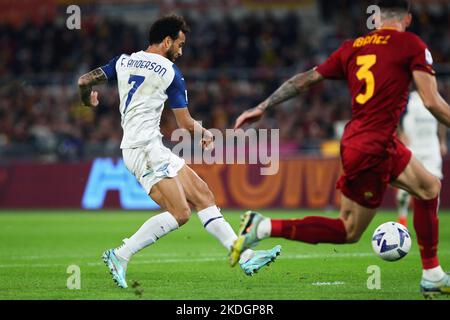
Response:
[[[101,69],[108,80],[117,78],[122,149],[142,147],[161,137],[159,125],[166,100],[171,108],[187,107],[183,75],[172,61],[159,54],[122,54]]]

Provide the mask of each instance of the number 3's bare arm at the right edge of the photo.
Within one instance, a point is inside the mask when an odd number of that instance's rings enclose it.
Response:
[[[439,122],[450,127],[450,106],[439,94],[436,77],[427,72],[414,71],[413,78],[425,107]]]

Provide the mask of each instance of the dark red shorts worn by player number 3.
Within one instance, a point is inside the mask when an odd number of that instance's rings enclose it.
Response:
[[[383,155],[341,147],[344,174],[337,182],[337,188],[363,207],[378,208],[388,184],[405,170],[411,157],[411,151],[397,138]]]

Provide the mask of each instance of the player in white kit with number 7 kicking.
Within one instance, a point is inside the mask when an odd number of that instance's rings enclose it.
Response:
[[[131,257],[185,224],[191,216],[189,204],[197,210],[205,229],[228,251],[237,239],[207,184],[162,143],[159,124],[168,100],[178,126],[192,133],[201,132],[202,146],[213,147],[212,133],[190,116],[184,78],[174,64],[182,55],[188,32],[182,17],[162,17],[150,28],[147,50],[122,54],[78,80],[84,105],[96,107],[98,92],[92,91],[92,86],[117,79],[124,163],[149,196],[166,210],[147,220],[123,240],[123,245],[104,252],[103,260],[121,288],[127,287],[125,276]],[[271,250],[247,250],[240,256],[240,265],[247,275],[253,275],[274,261],[280,249],[276,246]]]

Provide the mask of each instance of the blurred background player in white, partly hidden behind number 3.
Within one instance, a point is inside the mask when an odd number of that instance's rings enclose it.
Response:
[[[423,166],[443,179],[442,157],[447,154],[447,128],[440,125],[424,106],[417,91],[412,91],[399,127],[399,137]],[[398,222],[407,226],[410,194],[402,189],[397,193]]]

